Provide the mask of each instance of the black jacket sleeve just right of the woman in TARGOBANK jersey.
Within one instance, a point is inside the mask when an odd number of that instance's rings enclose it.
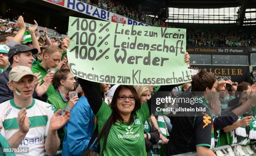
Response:
[[[152,121],[150,121],[150,132],[146,133],[146,135],[147,135],[147,138],[145,138],[146,151],[150,151],[153,149],[153,145],[158,143],[160,138],[159,132],[154,126],[154,123]]]

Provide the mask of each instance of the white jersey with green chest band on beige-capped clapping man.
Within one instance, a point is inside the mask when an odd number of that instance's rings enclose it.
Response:
[[[17,107],[13,99],[0,104],[0,124],[3,125],[0,133],[7,140],[19,129],[17,117],[20,109],[22,108]],[[26,115],[29,119],[29,131],[19,147],[28,147],[29,154],[16,154],[16,156],[44,156],[45,138],[50,126],[50,119],[56,109],[51,104],[36,99],[33,99],[31,106],[26,109]]]

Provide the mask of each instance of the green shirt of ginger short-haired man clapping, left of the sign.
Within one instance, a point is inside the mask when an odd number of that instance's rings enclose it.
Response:
[[[40,79],[44,78],[45,75],[47,74],[47,70],[44,69],[44,67],[42,67],[41,62],[42,60],[37,61],[36,65],[33,65],[31,68],[33,73],[39,73],[39,72],[41,73],[42,77]],[[43,83],[44,83],[44,80],[41,81],[41,84]],[[46,94],[50,96],[54,92],[55,92],[54,86],[51,84],[47,89]]]

